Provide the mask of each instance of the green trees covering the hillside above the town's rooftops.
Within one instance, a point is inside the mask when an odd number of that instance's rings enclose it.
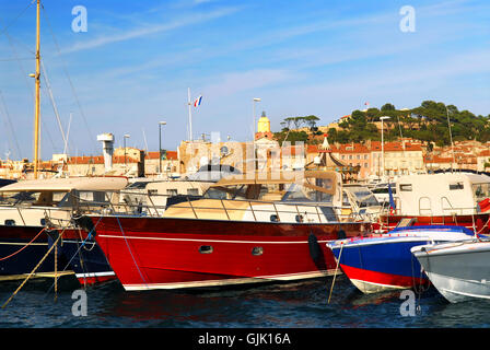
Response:
[[[466,109],[459,110],[453,104],[446,105],[431,100],[422,101],[420,106],[413,108],[396,109],[395,105],[386,103],[380,109],[374,107],[366,110],[355,109],[349,118],[338,124],[339,128],[328,130],[328,141],[348,143],[381,140],[380,117],[382,116],[390,117],[384,121],[385,141],[408,137],[428,144],[450,145],[450,125],[453,141],[490,141],[490,115],[475,115]],[[292,129],[307,126],[311,131],[316,131],[318,121],[319,118],[313,115],[288,117],[281,122],[283,127],[281,132],[290,131],[288,141],[294,139],[307,142],[307,132],[303,131],[304,135],[300,135]],[[319,133],[316,131],[316,135]],[[284,136],[285,132],[282,137]]]

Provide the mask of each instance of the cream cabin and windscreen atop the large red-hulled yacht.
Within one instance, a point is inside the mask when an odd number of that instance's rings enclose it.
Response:
[[[340,221],[341,176],[337,172],[257,173],[225,177],[211,185],[202,199],[179,202],[164,218],[260,222]]]

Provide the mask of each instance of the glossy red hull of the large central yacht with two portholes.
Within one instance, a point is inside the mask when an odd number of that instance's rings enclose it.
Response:
[[[336,268],[325,243],[342,235],[359,236],[364,231],[362,223],[115,217],[92,220],[98,222],[97,244],[126,290],[318,278],[334,273]]]

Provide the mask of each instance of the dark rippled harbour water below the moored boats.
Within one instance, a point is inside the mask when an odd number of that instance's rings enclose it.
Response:
[[[20,282],[0,285],[3,304]],[[450,304],[435,290],[402,316],[400,292],[364,295],[346,277],[208,291],[126,292],[117,281],[86,289],[86,316],[72,313],[74,278],[30,281],[0,308],[1,328],[486,328],[490,302]]]

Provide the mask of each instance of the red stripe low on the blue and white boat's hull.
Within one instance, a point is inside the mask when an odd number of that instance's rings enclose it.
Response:
[[[421,284],[428,284],[429,281],[423,278],[417,278],[411,276],[399,276],[392,273],[384,273],[377,271],[370,271],[364,269],[359,269],[351,266],[346,266],[340,264],[343,273],[350,280],[358,280],[362,282],[368,282],[372,284],[385,285],[386,289],[389,288],[412,288]]]

